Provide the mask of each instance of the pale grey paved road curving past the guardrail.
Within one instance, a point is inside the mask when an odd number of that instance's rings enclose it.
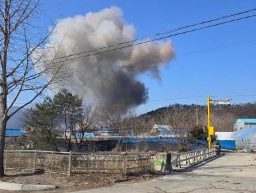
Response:
[[[148,181],[119,183],[79,193],[256,192],[256,154],[227,153],[198,166]]]

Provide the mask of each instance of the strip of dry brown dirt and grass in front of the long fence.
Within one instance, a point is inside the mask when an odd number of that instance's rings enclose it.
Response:
[[[7,171],[5,177],[0,181],[24,183],[24,184],[51,184],[56,185],[57,189],[44,192],[69,192],[71,190],[84,190],[87,188],[96,188],[99,186],[108,186],[113,184],[114,179],[123,178],[122,175],[73,175],[70,178],[67,175],[53,173],[32,173],[30,171]],[[0,192],[15,192],[0,190]],[[38,191],[32,191],[38,192]]]

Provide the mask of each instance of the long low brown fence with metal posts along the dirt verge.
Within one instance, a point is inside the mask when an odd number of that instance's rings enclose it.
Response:
[[[152,171],[147,153],[76,153],[5,150],[5,169],[44,171],[71,176],[78,173],[146,173]]]

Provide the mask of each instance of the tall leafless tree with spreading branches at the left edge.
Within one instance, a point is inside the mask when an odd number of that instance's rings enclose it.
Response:
[[[61,69],[65,57],[57,59],[61,46],[55,49],[55,53],[43,53],[41,49],[54,28],[38,37],[33,26],[39,5],[39,0],[0,0],[0,176],[4,174],[3,152],[8,119],[63,79]],[[24,104],[9,113],[18,98],[22,98]]]

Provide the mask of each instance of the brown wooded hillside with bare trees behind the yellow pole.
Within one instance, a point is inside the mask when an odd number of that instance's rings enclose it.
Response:
[[[174,127],[179,122],[178,127],[192,128],[197,124],[196,110],[198,110],[198,125],[207,127],[207,106],[196,104],[171,104],[147,112],[141,117]],[[211,105],[210,119],[216,131],[233,131],[233,124],[238,118],[256,118],[256,103]]]

